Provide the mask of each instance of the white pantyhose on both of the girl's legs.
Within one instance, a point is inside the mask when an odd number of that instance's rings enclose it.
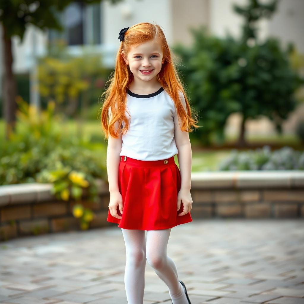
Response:
[[[167,255],[171,228],[147,230],[147,240],[145,230],[121,230],[126,245],[124,281],[128,304],[143,304],[146,261],[168,286],[173,304],[188,304],[176,265]]]

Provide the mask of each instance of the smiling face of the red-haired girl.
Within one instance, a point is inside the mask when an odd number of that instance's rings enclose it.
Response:
[[[126,64],[129,64],[134,78],[142,81],[157,78],[157,74],[161,71],[161,66],[164,63],[162,47],[156,40],[141,43],[138,47],[131,47],[128,56],[125,57],[124,54],[122,56]]]

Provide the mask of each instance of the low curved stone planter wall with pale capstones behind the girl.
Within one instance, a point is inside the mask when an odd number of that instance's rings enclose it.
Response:
[[[106,221],[108,185],[97,180],[98,202],[82,203],[94,212],[90,228],[117,226]],[[79,230],[75,202],[50,194],[51,184],[0,186],[0,240]],[[303,171],[216,171],[192,173],[193,220],[206,218],[303,218]]]

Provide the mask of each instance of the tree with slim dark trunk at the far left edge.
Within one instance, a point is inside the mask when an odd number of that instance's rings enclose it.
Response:
[[[101,2],[102,0],[82,0],[84,4]],[[121,0],[109,0],[112,4]],[[4,62],[4,96],[3,113],[6,121],[6,138],[9,138],[16,123],[16,80],[12,72],[12,36],[23,40],[26,26],[33,24],[38,28],[63,30],[56,17],[56,12],[63,11],[71,0],[5,0],[0,2],[0,24],[3,28],[3,62]]]

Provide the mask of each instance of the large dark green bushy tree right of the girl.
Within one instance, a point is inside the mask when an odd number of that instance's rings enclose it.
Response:
[[[244,147],[247,119],[266,116],[282,132],[283,120],[296,108],[294,93],[303,79],[289,60],[293,46],[283,50],[272,37],[257,42],[256,22],[272,16],[276,5],[277,1],[261,4],[257,0],[249,0],[243,8],[235,5],[236,12],[245,18],[240,39],[229,35],[221,39],[208,36],[204,28],[191,29],[195,41],[192,48],[175,48],[181,55],[183,65],[179,69],[192,104],[202,112],[202,128],[193,134],[202,143],[210,144],[214,134],[223,142],[228,117],[239,112],[242,122],[237,144]]]

